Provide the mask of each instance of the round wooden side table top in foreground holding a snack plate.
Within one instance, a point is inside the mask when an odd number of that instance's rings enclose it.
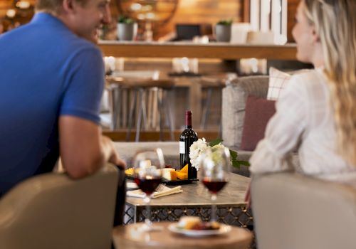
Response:
[[[112,238],[115,248],[125,249],[247,249],[252,240],[252,234],[244,228],[231,227],[224,235],[206,236],[200,238],[187,237],[168,230],[171,222],[154,223],[162,226],[162,231],[142,232],[137,229],[142,223],[135,223],[114,228]]]

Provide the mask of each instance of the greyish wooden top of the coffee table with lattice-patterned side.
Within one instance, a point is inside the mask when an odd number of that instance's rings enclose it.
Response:
[[[216,201],[217,206],[245,205],[244,196],[250,179],[231,173],[228,184],[222,189]],[[199,181],[181,185],[183,192],[159,198],[152,198],[151,206],[210,206],[211,194]],[[168,186],[174,187],[174,186]],[[134,206],[145,206],[143,198],[127,196],[126,202]]]

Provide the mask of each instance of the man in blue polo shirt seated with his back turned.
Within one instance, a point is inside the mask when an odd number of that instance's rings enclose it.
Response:
[[[105,161],[125,168],[101,135],[104,65],[96,31],[110,0],[37,0],[36,15],[0,36],[0,196],[58,156],[73,179]]]

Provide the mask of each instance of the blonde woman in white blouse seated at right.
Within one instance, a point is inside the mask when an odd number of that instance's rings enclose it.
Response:
[[[315,70],[290,78],[250,170],[355,181],[356,1],[302,0],[295,21],[297,58]],[[295,149],[298,169],[290,163]]]

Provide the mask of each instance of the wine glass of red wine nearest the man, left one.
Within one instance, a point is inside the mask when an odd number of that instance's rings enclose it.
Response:
[[[134,181],[137,186],[145,192],[145,203],[147,216],[142,229],[152,231],[150,212],[151,196],[162,181],[162,168],[164,168],[164,157],[162,149],[147,149],[137,152],[133,159]]]

